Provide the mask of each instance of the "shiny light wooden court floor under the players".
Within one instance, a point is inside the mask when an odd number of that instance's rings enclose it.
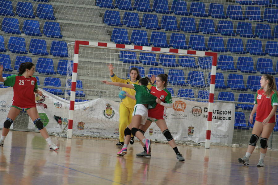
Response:
[[[96,185],[190,185],[278,184],[278,151],[268,150],[265,167],[256,167],[259,150],[250,165],[238,163],[246,149],[179,145],[185,161],[179,162],[168,144],[153,143],[152,157],[136,157],[138,142],[128,154],[116,153],[116,140],[58,138],[60,146],[49,150],[39,133],[11,131],[0,148],[0,184],[96,184]]]

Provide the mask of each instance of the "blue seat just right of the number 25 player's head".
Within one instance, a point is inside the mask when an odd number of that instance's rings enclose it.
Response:
[[[36,63],[36,72],[45,75],[56,75],[53,60],[49,58],[38,58]]]

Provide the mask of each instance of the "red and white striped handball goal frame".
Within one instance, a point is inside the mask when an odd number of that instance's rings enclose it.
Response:
[[[71,49],[71,48],[72,49]],[[74,48],[74,51],[72,51]],[[85,48],[85,49],[84,49]],[[91,56],[88,54],[82,54],[80,56],[80,52],[83,50],[87,53],[91,52]],[[91,51],[90,51],[91,50]],[[93,60],[95,55],[99,55],[99,52],[97,50],[103,51],[102,55],[105,55],[104,53],[107,51],[114,53],[115,51],[136,51],[136,52],[151,52],[151,53],[157,53],[157,54],[172,54],[172,55],[180,55],[180,56],[193,56],[196,58],[199,57],[206,57],[206,56],[212,56],[212,66],[210,71],[207,70],[206,73],[210,75],[210,84],[209,87],[209,98],[208,98],[208,115],[207,115],[207,121],[206,121],[206,136],[205,136],[205,148],[209,148],[210,146],[210,139],[211,139],[211,128],[212,128],[212,117],[213,117],[213,99],[214,99],[214,85],[215,85],[215,75],[216,75],[216,65],[217,65],[217,53],[215,52],[206,52],[206,51],[192,51],[192,50],[181,50],[181,49],[171,49],[171,48],[159,48],[159,47],[145,47],[145,46],[134,46],[134,45],[124,45],[124,44],[115,44],[115,43],[101,43],[101,42],[89,42],[89,41],[75,41],[74,43],[69,44],[69,52],[70,57],[69,60],[73,60],[73,67],[72,67],[72,75],[71,75],[71,87],[70,87],[70,110],[68,115],[68,129],[67,129],[67,138],[71,138],[73,134],[73,124],[74,124],[74,114],[75,114],[75,100],[76,100],[76,84],[77,84],[77,76],[79,75],[79,72],[82,73],[82,68],[78,66],[80,60]],[[105,50],[105,51],[104,51]],[[71,53],[73,52],[73,53]],[[92,59],[90,59],[92,57]],[[85,59],[86,58],[86,59]],[[107,57],[106,57],[107,58]],[[115,61],[111,61],[112,57],[109,57],[106,61],[104,61],[104,65],[98,64],[98,66],[95,66],[95,68],[100,67],[103,69],[103,72],[105,72],[106,76],[105,78],[108,79],[109,72],[106,67],[107,63],[113,63]],[[114,57],[116,62],[118,63],[118,58]],[[89,61],[90,63],[90,61]],[[88,64],[89,64],[88,63]],[[88,67],[87,64],[87,67]],[[83,64],[82,64],[83,65]],[[94,64],[91,64],[94,68]],[[132,65],[132,64],[129,64]],[[135,65],[135,64],[134,64]],[[116,67],[116,64],[114,64]],[[84,67],[84,66],[83,66]],[[152,66],[150,66],[152,67]],[[162,66],[163,68],[163,66]],[[165,67],[169,68],[169,67]],[[119,72],[115,72],[117,76],[120,76]],[[102,76],[102,75],[99,75]],[[96,77],[95,75],[93,76]],[[70,78],[70,76],[69,76]],[[90,79],[89,79],[90,80]],[[103,79],[97,79],[97,81],[100,81]],[[86,81],[86,80],[84,80]],[[83,82],[84,83],[84,82]],[[89,90],[89,89],[87,89]],[[104,89],[105,91],[105,89]],[[117,91],[118,92],[118,91]],[[116,94],[117,94],[116,92]],[[107,98],[107,97],[105,97]],[[108,97],[109,98],[109,97]],[[90,98],[89,98],[90,99]],[[115,96],[111,99],[115,100]],[[119,99],[118,99],[119,101]],[[82,116],[82,115],[80,115]]]

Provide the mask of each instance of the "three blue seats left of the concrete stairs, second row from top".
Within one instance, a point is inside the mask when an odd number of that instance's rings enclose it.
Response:
[[[5,33],[20,35],[23,32],[25,35],[42,36],[40,32],[40,23],[36,20],[24,20],[22,32],[19,29],[18,19],[5,17],[1,25],[1,31]],[[60,24],[56,22],[46,21],[43,27],[43,34],[51,38],[60,39],[63,37],[63,35],[61,35]]]

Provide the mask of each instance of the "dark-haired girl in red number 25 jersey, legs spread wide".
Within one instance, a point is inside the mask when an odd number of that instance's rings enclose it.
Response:
[[[11,109],[9,110],[6,121],[3,124],[2,136],[0,138],[0,146],[4,145],[4,140],[9,133],[11,124],[19,113],[24,109],[30,116],[36,127],[39,129],[40,134],[48,142],[49,148],[53,150],[59,147],[51,141],[48,136],[47,130],[39,117],[36,108],[35,93],[42,96],[42,92],[38,89],[37,79],[33,76],[35,66],[31,62],[25,62],[19,66],[19,74],[2,77],[3,66],[0,66],[0,82],[4,82],[6,86],[13,87],[14,97]]]

